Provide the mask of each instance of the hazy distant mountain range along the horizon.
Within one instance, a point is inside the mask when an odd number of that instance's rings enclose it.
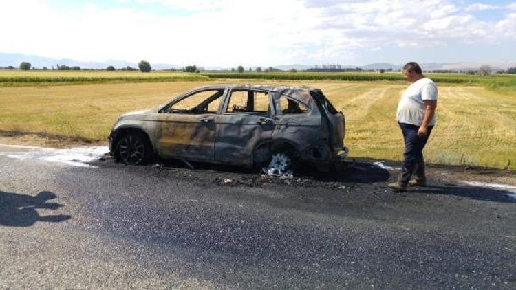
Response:
[[[116,67],[117,69],[120,69],[122,67],[138,67],[138,63],[133,63],[125,60],[106,60],[106,61],[80,61],[80,60],[73,60],[68,58],[48,58],[45,56],[35,56],[35,55],[26,55],[26,54],[11,54],[11,53],[2,53],[0,52],[0,67],[8,67],[12,65],[13,67],[19,67],[19,64],[22,61],[29,62],[32,67],[36,68],[42,68],[47,67],[49,69],[52,69],[52,67],[56,68],[57,65],[68,65],[69,67],[72,66],[78,66],[83,69],[105,69],[107,66],[112,65]],[[481,65],[490,65],[491,69],[493,71],[499,71],[508,69],[509,67],[516,67],[516,63],[422,63],[422,69],[426,71],[431,70],[450,70],[450,71],[467,71],[467,70],[475,70],[478,69]],[[180,69],[180,65],[175,64],[168,64],[168,63],[151,63],[151,66],[153,69],[156,70],[162,70],[162,69]],[[200,65],[197,65],[197,67],[201,67]],[[235,66],[236,68],[237,66]],[[252,69],[256,69],[257,66],[252,67]],[[302,71],[305,69],[310,69],[312,67],[315,67],[315,65],[264,65],[261,66],[262,69],[265,69],[267,67],[275,67],[277,69],[282,70],[289,70],[289,69],[296,69],[298,71]],[[322,65],[319,65],[319,67],[322,67]],[[393,65],[391,63],[371,63],[368,65],[341,65],[343,68],[361,68],[364,70],[369,69],[393,69],[398,70],[402,68],[402,65]],[[202,67],[206,70],[228,70],[231,69],[231,67]],[[246,70],[248,67],[245,68]]]

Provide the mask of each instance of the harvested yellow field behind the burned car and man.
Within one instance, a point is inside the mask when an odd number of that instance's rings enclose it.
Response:
[[[218,82],[0,87],[0,130],[105,140],[121,113],[150,109],[187,89]],[[352,157],[402,158],[402,136],[395,112],[400,93],[406,85],[385,82],[266,82],[312,85],[323,89],[334,106],[346,115],[345,144],[350,147]],[[482,87],[439,85],[437,116],[438,123],[424,151],[427,161],[516,169],[514,96]]]

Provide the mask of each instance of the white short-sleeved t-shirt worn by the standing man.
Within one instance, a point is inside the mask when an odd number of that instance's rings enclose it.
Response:
[[[402,94],[396,111],[396,120],[400,123],[421,126],[424,115],[423,100],[437,100],[437,86],[429,78],[421,78],[413,82]],[[436,116],[429,126],[436,124]]]

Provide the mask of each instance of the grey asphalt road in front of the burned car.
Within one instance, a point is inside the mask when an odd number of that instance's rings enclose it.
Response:
[[[370,161],[294,179],[0,164],[1,289],[516,288],[516,200],[499,190],[397,194]]]

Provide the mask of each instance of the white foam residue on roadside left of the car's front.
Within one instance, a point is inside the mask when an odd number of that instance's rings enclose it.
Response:
[[[107,146],[78,147],[67,149],[43,148],[34,146],[2,145],[7,148],[19,150],[2,150],[0,155],[19,160],[39,160],[66,164],[70,166],[93,167],[89,165],[109,151]]]

